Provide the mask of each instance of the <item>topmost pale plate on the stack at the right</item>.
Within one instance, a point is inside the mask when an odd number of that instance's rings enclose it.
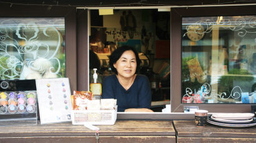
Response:
[[[212,117],[215,119],[252,119],[253,113],[214,113]]]

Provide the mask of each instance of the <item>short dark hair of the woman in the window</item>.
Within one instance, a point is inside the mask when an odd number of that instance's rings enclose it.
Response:
[[[136,57],[136,63],[137,63],[135,73],[137,73],[139,71],[140,58],[139,58],[139,54],[138,54],[137,50],[135,50],[134,47],[130,47],[128,45],[123,45],[121,47],[118,47],[116,50],[114,50],[114,52],[112,52],[111,55],[109,56],[109,67],[111,68],[112,71],[114,71],[114,73],[116,73],[116,75],[117,75],[117,70],[114,67],[114,64],[117,62],[117,60],[119,60],[121,55],[124,52],[126,52],[127,50],[132,50],[132,52],[134,52],[135,57]]]

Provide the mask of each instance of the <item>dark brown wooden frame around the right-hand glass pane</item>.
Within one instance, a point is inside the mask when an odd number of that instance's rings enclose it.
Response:
[[[255,15],[256,6],[229,7],[180,7],[171,12],[171,112],[183,112],[184,106],[199,106],[210,113],[245,113],[252,104],[182,104],[181,101],[181,55],[182,17],[198,16],[248,16]]]

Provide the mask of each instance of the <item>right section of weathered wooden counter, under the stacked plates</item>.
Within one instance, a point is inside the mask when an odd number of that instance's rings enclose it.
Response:
[[[256,142],[256,126],[241,129],[207,124],[195,126],[195,121],[174,121],[177,142]]]

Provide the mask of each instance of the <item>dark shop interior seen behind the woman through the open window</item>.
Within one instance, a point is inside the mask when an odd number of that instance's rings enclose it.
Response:
[[[109,68],[109,55],[117,47],[134,47],[141,61],[138,73],[150,81],[150,109],[161,112],[170,104],[170,12],[114,9],[114,14],[100,16],[98,10],[91,9],[90,14],[90,83],[94,82],[93,68],[97,68],[97,83],[115,74]]]

